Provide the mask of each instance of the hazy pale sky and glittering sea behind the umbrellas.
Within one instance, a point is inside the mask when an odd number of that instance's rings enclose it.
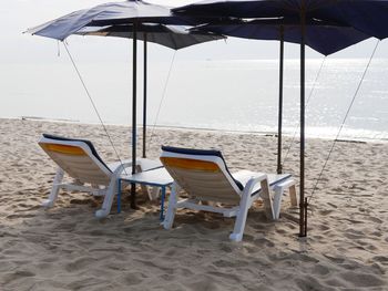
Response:
[[[103,2],[106,0],[2,1],[0,117],[41,116],[99,122],[63,44],[22,32],[74,10],[91,8]],[[181,6],[192,1],[150,0],[150,2]],[[103,121],[130,124],[132,41],[74,35],[67,42]],[[326,60],[309,108],[313,117],[308,119],[308,126],[338,125],[376,43],[376,39],[370,39]],[[150,124],[176,125],[178,121],[182,122],[182,126],[232,128],[233,125],[247,131],[264,131],[265,128],[257,126],[265,125],[269,129],[275,128],[278,51],[278,41],[231,38],[227,41],[183,49],[174,58],[174,51],[150,44],[147,86]],[[137,97],[141,98],[142,43],[139,43],[139,54]],[[287,107],[285,124],[293,127],[298,124],[299,45],[286,43],[285,54],[287,59],[285,101],[288,102],[285,106]],[[310,92],[324,56],[307,48],[307,58],[309,60],[306,66],[306,89]],[[350,119],[348,125],[351,128],[386,134],[387,60],[388,40],[384,40],[379,43],[355,108],[350,113],[349,118],[354,119]],[[170,67],[173,70],[170,71]],[[172,72],[171,79],[169,72]],[[235,98],[239,95],[244,96],[244,101]],[[223,98],[222,103],[219,98]],[[141,102],[137,104],[139,113],[141,104]],[[203,111],[203,104],[207,104],[210,108],[207,115]],[[163,105],[161,114],[157,115],[156,110],[161,105]],[[213,108],[219,106],[223,111],[214,114]],[[235,110],[225,114],[224,111],[227,112],[229,108]],[[263,115],[263,112],[267,115]],[[173,118],[171,113],[174,113]],[[320,113],[320,119],[317,119],[316,116]],[[190,117],[191,115],[193,116]],[[249,121],[246,115],[253,119]],[[372,135],[375,136],[375,133]]]

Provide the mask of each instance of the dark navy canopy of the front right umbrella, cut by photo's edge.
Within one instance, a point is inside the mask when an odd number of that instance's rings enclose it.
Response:
[[[327,20],[370,37],[388,37],[388,0],[206,0],[173,9],[192,17],[297,18]]]

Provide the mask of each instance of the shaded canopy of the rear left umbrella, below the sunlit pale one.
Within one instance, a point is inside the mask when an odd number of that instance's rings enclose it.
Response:
[[[137,24],[139,40],[157,43],[173,50],[181,50],[194,44],[225,39],[225,37],[205,31],[188,31],[188,27],[156,23]],[[85,27],[75,34],[118,37],[133,39],[133,25]]]

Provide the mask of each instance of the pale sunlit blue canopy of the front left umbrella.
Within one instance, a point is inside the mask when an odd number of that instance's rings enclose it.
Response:
[[[173,15],[167,7],[151,4],[141,0],[127,0],[78,10],[31,28],[27,32],[63,41],[86,25],[103,27],[133,22],[198,24],[198,21],[194,18]]]

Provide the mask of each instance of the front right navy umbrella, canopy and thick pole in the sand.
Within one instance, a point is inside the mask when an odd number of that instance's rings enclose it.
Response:
[[[299,236],[305,237],[307,235],[307,201],[305,199],[305,45],[308,40],[309,21],[331,22],[339,27],[351,28],[351,32],[346,33],[346,35],[351,35],[354,31],[358,31],[381,40],[388,37],[388,0],[206,0],[180,7],[173,9],[173,11],[178,15],[201,18],[278,18],[296,20],[294,24],[299,33],[289,38],[292,42],[300,43]],[[244,33],[246,37],[248,35],[247,32]],[[343,37],[339,35],[331,39],[326,39],[326,35],[325,33],[320,34],[321,39],[318,41],[317,48],[324,48],[326,42],[335,48],[344,41]],[[268,37],[268,34],[265,37]],[[280,37],[277,39],[280,39]]]

